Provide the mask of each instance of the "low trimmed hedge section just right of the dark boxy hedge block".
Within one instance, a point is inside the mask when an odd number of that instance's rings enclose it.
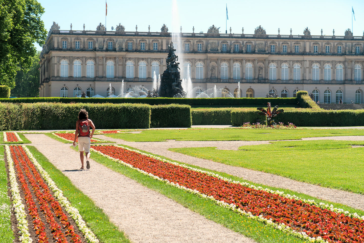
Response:
[[[231,109],[193,109],[192,125],[231,125]]]

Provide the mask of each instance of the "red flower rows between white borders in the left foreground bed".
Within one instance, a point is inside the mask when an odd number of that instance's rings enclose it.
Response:
[[[55,242],[67,243],[67,238],[69,238],[71,242],[81,243],[82,240],[75,233],[74,226],[68,221],[67,215],[63,212],[58,201],[50,193],[47,184],[44,183],[24,149],[21,146],[10,146],[10,152],[14,161],[17,177],[24,192],[29,215],[33,218],[33,229],[38,236],[38,242],[48,242],[45,231],[45,227],[47,226]],[[31,192],[35,195],[35,198],[33,198]],[[36,203],[39,205],[39,208]],[[47,224],[42,222],[39,217],[39,211],[44,214]],[[55,216],[58,220],[56,220]]]

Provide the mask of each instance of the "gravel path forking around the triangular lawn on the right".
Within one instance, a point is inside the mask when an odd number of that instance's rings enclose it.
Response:
[[[116,144],[124,144],[137,149],[145,150],[150,153],[159,154],[180,162],[185,162],[191,165],[200,166],[202,168],[211,169],[214,171],[225,172],[229,175],[242,177],[245,180],[252,181],[272,187],[285,188],[296,192],[301,192],[306,195],[317,197],[319,199],[341,203],[353,208],[364,210],[364,195],[357,193],[342,191],[338,189],[320,187],[295,181],[286,177],[273,175],[270,173],[253,171],[242,167],[226,165],[211,160],[191,157],[181,153],[175,153],[169,148],[194,148],[194,147],[217,147],[218,149],[238,149],[243,145],[268,144],[269,141],[175,141],[169,140],[166,142],[128,142],[121,139],[106,137],[104,135],[96,135],[95,137],[114,141]],[[316,137],[305,138],[304,140],[349,140],[363,141],[364,136],[337,136],[337,137]],[[290,140],[292,141],[292,140]]]

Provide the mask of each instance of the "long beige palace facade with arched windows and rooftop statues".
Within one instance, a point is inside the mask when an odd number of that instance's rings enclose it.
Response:
[[[150,27],[149,27],[150,30]],[[219,33],[211,26],[207,33],[127,32],[122,25],[105,31],[60,30],[53,25],[40,54],[40,97],[118,95],[122,80],[126,92],[135,85],[153,87],[153,74],[166,69],[168,45],[180,56],[181,77],[190,73],[195,95],[213,88],[222,97],[295,97],[298,90],[313,93],[320,103],[363,103],[364,34],[353,36],[267,35],[257,27],[254,34]],[[182,57],[182,59],[181,59]],[[240,96],[237,89],[240,82]]]

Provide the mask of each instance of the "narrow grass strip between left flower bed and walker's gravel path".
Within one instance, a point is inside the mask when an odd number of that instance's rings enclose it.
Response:
[[[50,175],[51,179],[63,191],[72,206],[77,208],[90,229],[102,243],[129,243],[127,236],[110,222],[108,216],[94,202],[76,188],[52,163],[35,147],[27,146],[39,164]]]

